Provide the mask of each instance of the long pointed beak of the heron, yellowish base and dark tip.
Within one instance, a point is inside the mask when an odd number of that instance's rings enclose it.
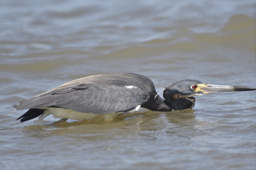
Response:
[[[211,85],[205,84],[200,88],[204,94],[216,93],[216,92],[236,92],[236,91],[250,91],[256,90],[252,87],[232,86],[232,85]]]

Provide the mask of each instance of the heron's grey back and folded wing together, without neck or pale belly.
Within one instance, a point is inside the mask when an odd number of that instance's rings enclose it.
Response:
[[[57,107],[83,113],[129,111],[156,94],[154,83],[138,74],[99,74],[64,83],[14,104],[17,110]]]

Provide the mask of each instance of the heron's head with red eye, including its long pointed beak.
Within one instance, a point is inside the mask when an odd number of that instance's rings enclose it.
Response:
[[[256,90],[251,87],[211,85],[198,80],[181,80],[164,88],[163,97],[173,110],[184,110],[195,106],[195,96],[215,92]]]

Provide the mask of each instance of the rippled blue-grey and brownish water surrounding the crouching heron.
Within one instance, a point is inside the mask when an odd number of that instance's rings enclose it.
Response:
[[[256,92],[108,123],[10,113],[98,73],[140,73],[157,91],[186,78],[256,87],[255,13],[255,1],[1,1],[1,169],[255,169]]]

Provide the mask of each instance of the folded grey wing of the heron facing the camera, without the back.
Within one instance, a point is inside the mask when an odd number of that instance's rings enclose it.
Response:
[[[13,105],[17,110],[29,108],[60,107],[83,113],[113,113],[130,110],[149,98],[143,90],[120,86],[86,83],[53,89]]]

